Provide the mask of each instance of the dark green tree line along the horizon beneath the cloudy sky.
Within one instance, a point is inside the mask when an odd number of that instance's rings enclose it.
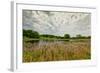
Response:
[[[64,34],[64,36],[55,36],[51,34],[39,34],[37,31],[25,30],[25,29],[23,29],[23,37],[35,38],[35,39],[39,39],[40,37],[55,38],[55,39],[88,39],[88,38],[91,38],[91,36],[82,36],[81,34],[78,34],[75,37],[71,37],[70,34]]]

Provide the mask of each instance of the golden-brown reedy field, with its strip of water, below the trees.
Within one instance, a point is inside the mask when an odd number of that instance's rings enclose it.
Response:
[[[23,41],[23,62],[91,59],[90,39]]]

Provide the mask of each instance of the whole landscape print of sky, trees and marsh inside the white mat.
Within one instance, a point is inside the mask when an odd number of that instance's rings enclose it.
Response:
[[[91,13],[23,10],[22,61],[91,59]]]

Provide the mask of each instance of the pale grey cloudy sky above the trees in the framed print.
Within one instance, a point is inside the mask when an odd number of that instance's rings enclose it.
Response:
[[[23,10],[23,29],[31,29],[40,34],[89,36],[91,34],[91,14]]]

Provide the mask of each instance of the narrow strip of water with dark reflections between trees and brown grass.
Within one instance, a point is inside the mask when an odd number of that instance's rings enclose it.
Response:
[[[66,45],[68,44],[72,44],[72,43],[76,43],[76,42],[88,42],[89,40],[86,39],[81,39],[81,40],[73,40],[73,39],[67,39],[67,40],[28,40],[25,41],[25,43],[23,45],[25,45],[26,48],[28,48],[29,50],[31,49],[39,49],[39,48],[50,48],[51,46],[55,46],[55,47],[66,47]]]

